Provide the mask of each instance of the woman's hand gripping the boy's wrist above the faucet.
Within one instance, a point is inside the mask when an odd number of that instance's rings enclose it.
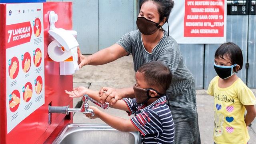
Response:
[[[108,102],[110,105],[113,105],[117,100],[122,99],[122,92],[119,89],[102,87],[99,92],[99,96],[100,103]]]

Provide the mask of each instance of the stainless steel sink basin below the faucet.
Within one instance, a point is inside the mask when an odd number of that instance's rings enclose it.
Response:
[[[69,124],[53,144],[140,144],[138,132],[120,132],[106,124]]]

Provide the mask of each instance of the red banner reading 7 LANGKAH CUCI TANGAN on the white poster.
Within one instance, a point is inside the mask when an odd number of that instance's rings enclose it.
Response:
[[[30,42],[32,28],[30,22],[22,22],[6,26],[6,48]]]

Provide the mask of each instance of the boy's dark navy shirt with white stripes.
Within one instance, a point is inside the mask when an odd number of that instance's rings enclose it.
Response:
[[[128,114],[135,114],[130,120],[140,132],[142,143],[173,144],[174,123],[170,108],[166,105],[166,96],[148,106],[138,105],[135,98],[123,100],[130,110]]]

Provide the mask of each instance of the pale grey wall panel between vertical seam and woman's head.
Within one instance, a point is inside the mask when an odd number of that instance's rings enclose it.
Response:
[[[99,50],[134,30],[134,0],[99,1]]]

